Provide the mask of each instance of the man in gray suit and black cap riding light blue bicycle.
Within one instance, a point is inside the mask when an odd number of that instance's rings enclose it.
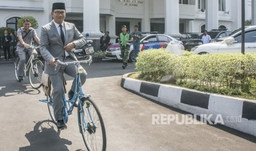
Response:
[[[45,59],[44,72],[49,74],[53,86],[53,110],[57,127],[62,130],[67,128],[63,121],[63,73],[75,78],[77,70],[75,65],[58,65],[55,70],[55,58],[58,57],[62,62],[77,61],[72,49],[83,47],[86,44],[86,39],[74,24],[64,22],[66,17],[64,3],[53,3],[51,15],[53,20],[41,28],[40,52]],[[80,74],[80,78],[83,85],[86,80],[86,73]],[[73,97],[74,90],[75,79],[68,93],[69,98]]]

